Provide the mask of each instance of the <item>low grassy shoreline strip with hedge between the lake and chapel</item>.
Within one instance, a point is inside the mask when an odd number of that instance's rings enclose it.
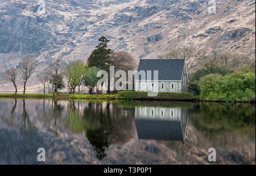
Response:
[[[120,94],[0,94],[0,98],[26,98],[26,99],[58,99],[58,100],[156,100],[156,101],[181,101],[181,102],[215,102],[215,103],[255,103],[255,100],[250,102],[246,101],[224,101],[224,100],[202,100],[199,97],[193,96],[192,98],[125,98]]]

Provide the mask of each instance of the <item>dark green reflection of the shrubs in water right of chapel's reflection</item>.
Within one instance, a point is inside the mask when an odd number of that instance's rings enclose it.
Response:
[[[234,131],[255,139],[255,104],[200,103],[191,108],[189,117],[209,139]]]

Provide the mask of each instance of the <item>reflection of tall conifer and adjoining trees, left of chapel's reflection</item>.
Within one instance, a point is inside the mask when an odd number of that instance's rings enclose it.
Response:
[[[125,143],[134,136],[134,108],[120,108],[110,102],[89,102],[82,115],[73,109],[67,119],[74,132],[86,132],[86,137],[101,160],[106,157],[105,148],[112,143]]]

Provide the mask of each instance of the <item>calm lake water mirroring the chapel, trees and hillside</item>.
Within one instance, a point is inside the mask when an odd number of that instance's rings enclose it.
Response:
[[[255,164],[255,104],[0,99],[0,164]]]

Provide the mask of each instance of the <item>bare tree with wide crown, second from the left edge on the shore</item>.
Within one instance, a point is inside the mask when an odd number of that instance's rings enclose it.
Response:
[[[24,83],[23,94],[25,94],[27,80],[28,80],[28,78],[31,77],[31,75],[36,70],[35,58],[33,58],[33,57],[23,58],[22,62],[18,65],[18,68],[19,68],[19,72],[23,79],[23,83]]]

